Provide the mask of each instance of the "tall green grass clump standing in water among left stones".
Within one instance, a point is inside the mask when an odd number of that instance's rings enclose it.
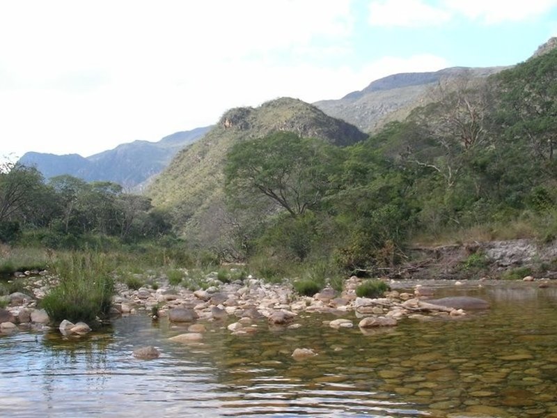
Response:
[[[52,320],[91,323],[97,316],[108,315],[114,293],[112,258],[74,252],[59,256],[53,267],[59,281],[42,300]]]

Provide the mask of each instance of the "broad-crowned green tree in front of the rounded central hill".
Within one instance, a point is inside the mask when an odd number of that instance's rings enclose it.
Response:
[[[240,142],[228,153],[226,192],[235,200],[265,196],[297,217],[327,193],[334,158],[332,146],[292,132]]]

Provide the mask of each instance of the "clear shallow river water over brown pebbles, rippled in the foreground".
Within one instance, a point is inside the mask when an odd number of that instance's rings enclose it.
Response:
[[[492,303],[466,318],[401,320],[363,334],[301,314],[298,329],[233,335],[146,315],[79,340],[58,331],[0,334],[0,417],[557,417],[557,286],[439,286]],[[398,286],[407,286],[399,284]],[[132,350],[156,346],[161,357]],[[317,356],[297,362],[295,348]]]

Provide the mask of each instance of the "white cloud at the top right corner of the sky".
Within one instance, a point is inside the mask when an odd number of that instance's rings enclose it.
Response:
[[[557,6],[557,0],[445,0],[444,3],[455,15],[485,24],[524,21]]]

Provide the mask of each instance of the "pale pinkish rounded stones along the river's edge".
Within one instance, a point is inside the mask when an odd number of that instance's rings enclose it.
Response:
[[[8,334],[18,329],[39,331],[50,329],[51,321],[44,310],[37,308],[37,302],[44,297],[55,279],[42,274],[27,277],[27,280],[28,288],[33,292],[34,297],[24,293],[13,293],[8,296],[9,306],[0,309],[0,333]],[[355,276],[345,281],[342,292],[324,288],[313,297],[297,295],[288,284],[268,284],[253,278],[228,284],[214,279],[211,284],[213,286],[206,290],[197,291],[168,286],[168,284],[157,290],[147,287],[132,290],[125,284],[117,284],[117,294],[113,297],[111,314],[116,316],[146,312],[155,318],[167,317],[171,323],[196,323],[197,321],[203,323],[203,321],[219,320],[228,323],[226,328],[233,334],[250,334],[257,330],[253,322],[262,318],[267,318],[269,326],[296,328],[299,324],[295,323],[295,318],[302,312],[334,314],[339,317],[354,312],[358,320],[356,325],[365,334],[366,331],[378,327],[394,327],[402,318],[416,320],[433,320],[436,317],[460,318],[466,316],[465,307],[472,307],[472,309],[489,307],[483,300],[476,300],[475,305],[459,304],[455,300],[450,300],[450,303],[444,300],[427,302],[427,298],[433,295],[433,291],[420,284],[414,288],[413,293],[394,290],[386,292],[384,297],[375,299],[357,297],[356,287],[361,284],[361,279]],[[459,284],[459,282],[455,283],[455,285]],[[347,318],[323,322],[324,325],[336,329],[354,327],[354,322]],[[173,341],[182,343],[201,341],[204,326],[196,325],[201,326],[190,327],[187,333],[172,337]],[[91,332],[91,327],[87,324],[73,324],[67,320],[63,321],[58,329],[64,336],[83,336]],[[146,353],[141,353],[141,349],[138,353],[134,353],[134,356],[139,358],[153,358],[153,355],[152,348],[146,348]],[[308,349],[301,349],[292,354],[295,359],[312,355],[315,353]]]

